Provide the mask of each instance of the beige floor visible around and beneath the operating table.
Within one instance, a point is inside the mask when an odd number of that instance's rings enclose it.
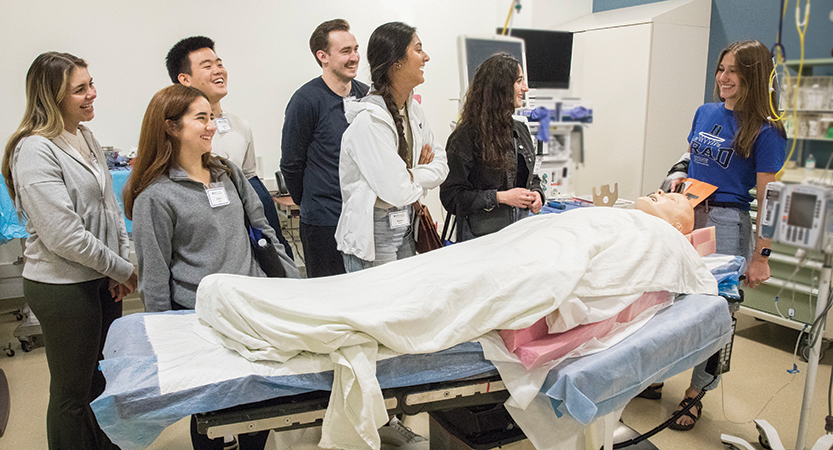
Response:
[[[0,304],[0,310],[5,306]],[[757,443],[755,427],[751,424],[755,418],[768,420],[778,430],[784,445],[787,448],[794,446],[806,364],[798,362],[801,373],[796,376],[788,374],[787,369],[793,364],[792,352],[798,332],[747,316],[738,317],[732,369],[725,375],[721,386],[703,399],[703,418],[693,431],[665,430],[651,438],[659,449],[721,449],[721,433],[736,435],[761,448]],[[46,449],[44,434],[49,384],[46,357],[42,347],[29,353],[20,351],[19,343],[12,338],[17,324],[11,315],[0,316],[0,346],[12,342],[17,350],[12,358],[0,354],[0,368],[5,371],[11,391],[11,417],[5,435],[0,437],[0,449],[43,450]],[[819,368],[808,448],[824,433],[831,363],[833,350],[827,352]],[[686,372],[667,380],[664,397],[660,401],[632,401],[622,415],[623,421],[637,431],[645,432],[665,420],[681,399],[688,377],[689,372]],[[406,424],[427,435],[428,422],[424,415],[406,418]],[[267,448],[315,448],[316,430],[301,434],[304,435],[296,433],[276,437],[273,433]],[[150,448],[190,448],[187,420],[165,430]]]

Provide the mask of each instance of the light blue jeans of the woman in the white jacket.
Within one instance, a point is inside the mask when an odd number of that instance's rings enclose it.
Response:
[[[408,210],[411,224],[407,227],[391,228],[388,216],[403,209]],[[414,207],[380,209],[373,208],[373,242],[376,259],[365,261],[356,255],[342,253],[344,268],[347,272],[357,272],[370,267],[381,266],[392,261],[414,256]]]

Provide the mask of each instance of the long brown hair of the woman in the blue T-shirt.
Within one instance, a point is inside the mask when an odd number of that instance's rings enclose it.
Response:
[[[740,157],[748,158],[752,154],[752,147],[761,133],[761,128],[765,125],[774,127],[783,137],[787,134],[781,122],[773,122],[767,118],[770,115],[769,102],[776,104],[775,92],[769,91],[769,76],[773,65],[769,49],[755,40],[730,44],[720,52],[715,77],[720,70],[723,56],[729,52],[735,56],[735,72],[740,80],[733,111],[738,122],[738,130],[732,146]],[[714,98],[724,100],[720,97],[719,83],[714,84]]]

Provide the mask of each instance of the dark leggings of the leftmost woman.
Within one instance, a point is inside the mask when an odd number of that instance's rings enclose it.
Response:
[[[104,339],[122,312],[121,302],[110,296],[109,279],[75,284],[24,279],[23,295],[40,321],[49,364],[49,448],[117,449],[90,408],[104,392],[104,376],[98,370]]]

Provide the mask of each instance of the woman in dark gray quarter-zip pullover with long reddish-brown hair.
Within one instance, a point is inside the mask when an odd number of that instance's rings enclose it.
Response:
[[[162,89],[145,112],[124,209],[133,220],[147,311],[194,309],[206,275],[266,276],[252,255],[244,214],[278,244],[287,276],[298,278],[243,172],[211,154],[215,130],[208,98],[193,87]],[[240,448],[262,449],[267,437],[268,432],[240,436]],[[222,449],[222,441],[197,433],[192,418],[195,449]]]

